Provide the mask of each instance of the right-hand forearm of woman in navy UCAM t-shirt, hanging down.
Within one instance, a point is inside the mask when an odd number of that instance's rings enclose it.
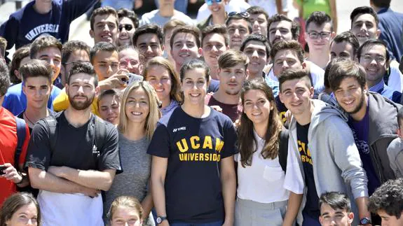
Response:
[[[236,177],[235,171],[223,174],[221,172],[222,193],[224,199],[225,209],[225,223],[233,225],[233,218],[235,212],[235,194],[236,194]]]

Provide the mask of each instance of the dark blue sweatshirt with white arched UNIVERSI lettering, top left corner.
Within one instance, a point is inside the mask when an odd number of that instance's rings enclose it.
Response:
[[[32,43],[41,34],[55,36],[62,43],[69,39],[70,23],[92,7],[98,0],[54,0],[49,13],[34,10],[35,1],[11,14],[0,27],[0,36],[7,40],[7,50]]]

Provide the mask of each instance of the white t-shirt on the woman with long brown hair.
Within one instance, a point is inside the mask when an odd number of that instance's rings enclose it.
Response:
[[[256,132],[254,132],[254,137],[257,140],[258,148],[252,155],[252,164],[250,166],[242,167],[240,154],[235,155],[235,161],[238,162],[238,197],[254,202],[271,203],[287,200],[289,191],[302,194],[303,185],[296,183],[296,181],[302,180],[302,175],[301,171],[292,170],[299,169],[292,166],[292,164],[298,165],[292,153],[287,156],[288,175],[286,175],[282,171],[278,157],[274,160],[270,158],[265,160],[261,156],[265,141]]]

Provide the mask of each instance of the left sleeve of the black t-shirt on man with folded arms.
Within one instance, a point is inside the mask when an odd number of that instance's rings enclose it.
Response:
[[[50,149],[48,129],[41,120],[32,129],[31,139],[27,148],[25,167],[47,170],[50,164]]]

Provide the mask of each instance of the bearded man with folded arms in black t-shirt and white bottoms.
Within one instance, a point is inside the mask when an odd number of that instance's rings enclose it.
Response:
[[[70,106],[32,130],[25,167],[39,189],[44,226],[104,225],[100,191],[109,190],[121,164],[116,128],[91,113],[97,83],[90,63],[75,64],[66,85]]]

